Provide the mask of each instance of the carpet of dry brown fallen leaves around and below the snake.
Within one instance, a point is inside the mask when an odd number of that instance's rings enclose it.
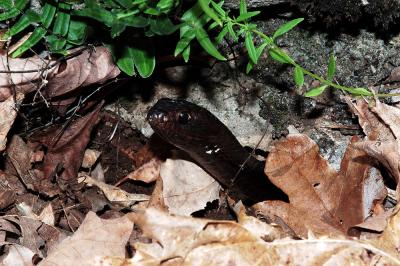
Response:
[[[15,60],[15,69],[43,67],[38,58]],[[41,93],[56,97],[58,114],[78,87],[118,74],[103,48],[46,71]],[[45,130],[13,134],[14,101],[38,92],[32,84],[41,78],[12,76],[16,97],[13,84],[0,84],[2,264],[400,265],[398,106],[347,99],[366,137],[351,139],[339,171],[306,135],[276,141],[265,172],[289,202],[246,206],[192,162],[166,160],[98,101]],[[374,169],[386,171],[376,180],[392,183],[370,199]],[[222,209],[223,219],[215,215]]]

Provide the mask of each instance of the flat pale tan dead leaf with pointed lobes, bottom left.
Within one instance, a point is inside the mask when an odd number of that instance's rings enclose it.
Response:
[[[39,265],[95,265],[99,257],[125,257],[132,229],[133,223],[126,216],[104,220],[89,212],[74,235],[64,239]]]

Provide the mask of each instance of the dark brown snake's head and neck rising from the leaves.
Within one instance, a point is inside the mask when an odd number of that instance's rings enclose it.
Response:
[[[286,194],[264,174],[264,163],[249,156],[232,132],[208,110],[184,100],[164,98],[149,110],[147,119],[161,138],[188,153],[240,199],[287,201]]]

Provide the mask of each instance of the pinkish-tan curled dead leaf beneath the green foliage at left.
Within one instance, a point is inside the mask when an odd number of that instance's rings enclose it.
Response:
[[[78,52],[77,50],[71,53]],[[27,59],[0,56],[0,101],[11,95],[11,86],[26,94],[38,89],[38,83],[47,78],[47,85],[41,90],[46,97],[56,97],[93,83],[102,83],[116,77],[120,71],[113,63],[110,52],[105,47],[85,49],[64,63],[48,61],[39,57]],[[8,67],[9,68],[8,68]],[[50,67],[49,67],[50,66]],[[31,71],[29,73],[4,73],[11,71]],[[35,71],[37,70],[37,71]],[[11,82],[12,81],[12,82]]]

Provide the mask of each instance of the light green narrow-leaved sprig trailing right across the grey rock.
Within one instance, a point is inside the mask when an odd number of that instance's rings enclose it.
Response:
[[[284,25],[281,25],[273,34],[272,37],[264,34],[257,29],[257,25],[250,22],[250,19],[258,15],[259,11],[247,11],[245,0],[240,0],[239,16],[231,17],[228,12],[221,8],[220,4],[212,0],[199,0],[199,6],[202,8],[203,12],[213,20],[210,28],[219,26],[221,31],[216,38],[216,43],[218,44],[221,40],[229,34],[230,38],[234,41],[239,40],[239,36],[242,36],[245,40],[245,46],[247,49],[249,63],[246,68],[246,72],[250,72],[255,64],[257,64],[263,51],[267,49],[271,58],[279,63],[288,64],[293,67],[294,81],[297,86],[301,87],[304,84],[304,75],[308,75],[311,78],[318,80],[322,85],[309,90],[305,96],[315,97],[324,92],[328,87],[342,90],[348,92],[354,96],[374,96],[374,93],[366,88],[354,88],[346,87],[337,84],[333,81],[333,77],[336,71],[336,60],[333,55],[329,58],[327,77],[318,76],[311,71],[303,68],[299,63],[297,63],[293,58],[291,58],[285,51],[283,51],[276,43],[276,40],[284,35],[285,33],[292,30],[296,25],[303,21],[302,18],[291,20]],[[254,37],[258,36],[261,42],[258,47],[255,47]],[[182,37],[182,35],[181,35]],[[204,45],[203,45],[204,47]],[[182,50],[181,47],[177,47],[177,50]],[[215,47],[207,47],[205,50],[217,59],[220,59],[219,53],[215,53]],[[388,94],[379,94],[378,96],[388,96]]]

